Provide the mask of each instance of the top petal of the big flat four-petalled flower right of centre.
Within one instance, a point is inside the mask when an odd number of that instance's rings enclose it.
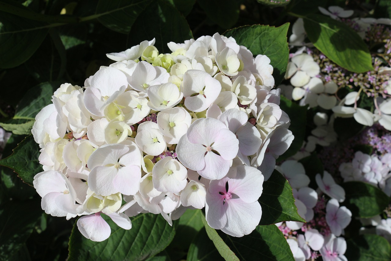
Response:
[[[221,129],[227,129],[224,123],[214,118],[195,120],[187,130],[187,138],[191,143],[210,146],[219,136]]]

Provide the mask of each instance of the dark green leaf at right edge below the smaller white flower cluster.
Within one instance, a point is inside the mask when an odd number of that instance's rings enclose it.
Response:
[[[388,207],[390,198],[379,188],[361,181],[342,183],[346,206],[355,217],[369,218],[381,214]]]

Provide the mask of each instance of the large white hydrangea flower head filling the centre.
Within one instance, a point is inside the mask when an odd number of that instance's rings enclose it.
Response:
[[[211,227],[251,233],[264,177],[293,140],[267,56],[217,33],[168,46],[107,54],[116,62],[83,88],[61,85],[36,116],[42,208],[82,216],[77,226],[93,241],[110,235],[101,214],[130,229],[139,213],[171,225],[203,207]]]

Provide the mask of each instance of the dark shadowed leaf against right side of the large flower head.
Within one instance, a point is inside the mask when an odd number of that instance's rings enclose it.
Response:
[[[294,136],[294,140],[288,150],[278,157],[278,161],[283,161],[296,154],[296,152],[301,149],[301,145],[303,145],[305,138],[305,131],[303,131],[303,127],[307,124],[307,106],[300,106],[291,100],[288,100],[284,96],[281,96],[280,108],[286,112],[291,119],[289,130]]]

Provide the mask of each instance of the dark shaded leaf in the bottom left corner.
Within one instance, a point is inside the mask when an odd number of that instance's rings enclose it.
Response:
[[[16,259],[16,252],[24,256],[25,242],[34,230],[42,214],[41,200],[10,201],[0,210],[0,259]],[[11,256],[12,255],[12,256]],[[12,259],[11,259],[12,260]],[[25,260],[25,259],[19,259]]]

